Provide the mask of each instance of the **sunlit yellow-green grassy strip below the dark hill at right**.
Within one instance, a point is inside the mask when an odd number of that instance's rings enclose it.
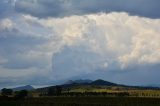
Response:
[[[120,88],[120,87],[74,87],[70,90],[70,92],[108,92],[108,93],[120,93],[127,92],[130,97],[153,97],[160,98],[160,90],[140,90],[140,89],[128,89]]]

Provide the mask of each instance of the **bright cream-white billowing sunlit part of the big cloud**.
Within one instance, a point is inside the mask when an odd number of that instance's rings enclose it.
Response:
[[[90,51],[117,61],[122,67],[160,62],[159,19],[113,12],[40,22],[60,36],[64,44],[86,45]]]

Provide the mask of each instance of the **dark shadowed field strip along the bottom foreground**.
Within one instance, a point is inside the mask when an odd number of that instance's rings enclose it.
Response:
[[[160,99],[137,97],[39,97],[25,100],[0,100],[0,106],[160,106]]]

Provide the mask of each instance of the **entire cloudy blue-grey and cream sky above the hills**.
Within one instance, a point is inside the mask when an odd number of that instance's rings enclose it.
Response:
[[[160,85],[159,10],[160,0],[0,0],[0,88]]]

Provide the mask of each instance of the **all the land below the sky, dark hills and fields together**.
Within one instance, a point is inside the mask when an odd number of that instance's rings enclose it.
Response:
[[[0,106],[160,106],[159,88],[102,80],[11,91],[2,89]]]

